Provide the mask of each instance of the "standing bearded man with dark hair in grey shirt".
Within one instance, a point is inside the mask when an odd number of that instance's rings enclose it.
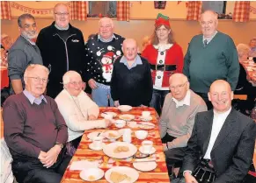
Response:
[[[31,14],[18,17],[20,36],[8,53],[8,75],[11,81],[10,94],[19,94],[25,88],[24,72],[30,64],[41,64],[40,49],[35,45],[37,26]]]

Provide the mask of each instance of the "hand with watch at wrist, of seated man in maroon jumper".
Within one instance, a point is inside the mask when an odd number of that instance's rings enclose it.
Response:
[[[52,147],[47,152],[44,166],[48,168],[48,167],[54,165],[56,160],[57,160],[57,158],[58,158],[58,156],[59,156],[60,151],[62,151],[61,146],[58,145],[58,144],[55,144],[55,146]]]

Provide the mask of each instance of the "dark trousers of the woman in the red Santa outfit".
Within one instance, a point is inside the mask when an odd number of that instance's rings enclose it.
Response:
[[[169,94],[169,90],[158,90],[153,89],[153,95],[150,102],[150,107],[157,110],[157,114],[160,116],[162,112],[162,108],[165,102],[165,96]]]

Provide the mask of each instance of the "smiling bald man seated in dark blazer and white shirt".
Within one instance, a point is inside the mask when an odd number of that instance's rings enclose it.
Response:
[[[214,81],[208,99],[214,109],[195,116],[182,166],[185,181],[242,182],[252,164],[256,125],[231,108],[233,92],[227,81]]]

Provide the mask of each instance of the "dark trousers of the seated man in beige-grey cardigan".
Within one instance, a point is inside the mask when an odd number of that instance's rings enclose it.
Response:
[[[166,144],[167,142],[172,142],[176,137],[170,136],[168,133],[166,133],[165,137],[163,137],[162,143]],[[172,167],[173,166],[181,166],[182,160],[185,156],[186,147],[177,147],[170,150],[165,151],[165,160],[166,165],[168,169],[168,174],[172,174]]]

